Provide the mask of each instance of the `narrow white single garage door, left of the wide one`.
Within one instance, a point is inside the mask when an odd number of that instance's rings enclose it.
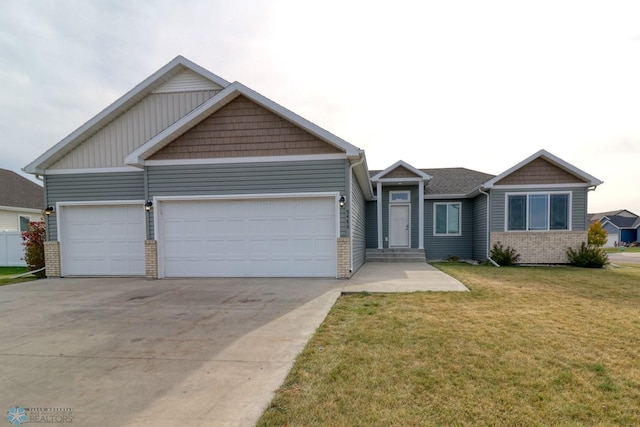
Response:
[[[145,274],[142,204],[64,206],[58,217],[64,276]]]

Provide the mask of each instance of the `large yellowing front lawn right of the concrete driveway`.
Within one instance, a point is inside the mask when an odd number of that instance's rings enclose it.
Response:
[[[340,298],[258,425],[640,425],[640,268],[437,266],[471,292]]]

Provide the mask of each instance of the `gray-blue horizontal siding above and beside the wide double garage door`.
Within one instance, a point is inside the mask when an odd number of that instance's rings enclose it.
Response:
[[[339,192],[347,195],[347,161],[226,163],[149,166],[149,198],[265,193]],[[153,221],[149,224],[153,236]],[[346,209],[340,210],[340,236],[348,237]]]

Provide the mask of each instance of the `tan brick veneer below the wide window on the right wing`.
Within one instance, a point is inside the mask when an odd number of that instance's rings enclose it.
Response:
[[[586,231],[493,232],[491,247],[497,242],[520,254],[521,264],[566,264],[568,248],[587,241]]]

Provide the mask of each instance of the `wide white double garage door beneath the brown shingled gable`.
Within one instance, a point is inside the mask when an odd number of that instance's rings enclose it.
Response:
[[[333,197],[162,201],[164,277],[335,277]]]

